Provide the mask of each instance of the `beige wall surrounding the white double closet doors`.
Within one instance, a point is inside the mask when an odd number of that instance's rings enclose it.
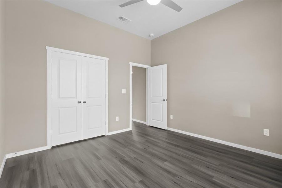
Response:
[[[5,153],[47,144],[45,46],[108,57],[109,131],[129,128],[129,92],[121,89],[129,91],[130,61],[150,65],[150,40],[44,1],[5,8]]]

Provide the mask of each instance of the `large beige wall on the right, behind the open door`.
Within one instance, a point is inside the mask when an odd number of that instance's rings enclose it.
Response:
[[[168,127],[282,154],[281,1],[243,1],[153,39],[160,64]]]

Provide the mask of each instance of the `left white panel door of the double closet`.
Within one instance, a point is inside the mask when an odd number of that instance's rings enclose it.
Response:
[[[81,56],[52,52],[51,67],[51,140],[55,146],[82,138]]]

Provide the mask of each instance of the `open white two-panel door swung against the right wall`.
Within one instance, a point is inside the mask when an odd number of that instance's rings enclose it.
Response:
[[[148,125],[167,129],[167,65],[148,68]]]

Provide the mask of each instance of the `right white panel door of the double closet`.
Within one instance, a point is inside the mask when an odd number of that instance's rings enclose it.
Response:
[[[106,133],[106,62],[82,57],[82,139]]]

